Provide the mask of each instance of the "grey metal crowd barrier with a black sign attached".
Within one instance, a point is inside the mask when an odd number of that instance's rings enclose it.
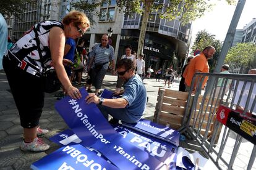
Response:
[[[238,169],[240,166],[243,166],[243,169],[255,169],[255,145],[252,142],[247,143],[248,141],[242,136],[218,122],[216,112],[220,105],[233,109],[243,105],[244,118],[247,117],[247,112],[255,116],[256,75],[196,73],[192,84],[195,78],[201,78],[197,82],[197,87],[201,87],[203,79],[207,76],[208,87],[205,91],[197,88],[193,95],[192,88],[190,89],[186,113],[179,131],[187,132],[190,137],[197,140],[205,155],[211,158],[218,169]],[[219,79],[222,79],[221,86],[217,86]],[[242,95],[244,92],[249,96],[246,100]],[[247,148],[251,145],[251,152],[247,153],[247,156],[244,153],[241,156],[239,153],[243,152],[245,144]],[[240,158],[237,158],[237,155]],[[241,160],[247,163],[242,165]]]

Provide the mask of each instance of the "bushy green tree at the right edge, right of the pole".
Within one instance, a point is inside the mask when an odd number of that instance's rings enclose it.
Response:
[[[241,67],[241,71],[256,68],[256,45],[253,43],[237,43],[229,49],[225,62]]]

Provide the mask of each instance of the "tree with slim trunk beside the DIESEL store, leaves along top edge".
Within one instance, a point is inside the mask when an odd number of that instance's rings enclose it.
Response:
[[[108,1],[109,0],[93,1],[93,4],[95,4],[96,8],[96,6]],[[234,3],[234,0],[226,1],[229,4]],[[88,0],[80,0],[80,2],[72,4],[72,6],[87,12],[88,8],[85,7],[88,5],[83,4],[88,3]],[[142,3],[143,6],[141,6]],[[178,18],[181,20],[182,24],[186,24],[191,20],[202,17],[205,11],[211,9],[212,6],[212,4],[208,3],[206,0],[169,0],[164,3],[163,0],[116,0],[116,4],[120,11],[124,9],[124,13],[137,12],[143,14],[142,25],[140,26],[138,54],[142,52],[150,12],[156,12],[160,18],[166,18],[168,20]],[[93,11],[94,13],[91,12],[90,14],[97,15],[95,12],[96,9],[93,9]]]

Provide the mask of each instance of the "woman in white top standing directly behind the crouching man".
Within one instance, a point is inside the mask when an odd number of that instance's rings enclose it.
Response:
[[[127,45],[126,46],[126,54],[122,55],[121,59],[130,59],[134,63],[134,68],[136,68],[136,57],[135,55],[132,55],[132,46]],[[116,81],[116,92],[121,91],[122,84],[124,82],[122,81],[119,76],[117,76],[117,81]]]

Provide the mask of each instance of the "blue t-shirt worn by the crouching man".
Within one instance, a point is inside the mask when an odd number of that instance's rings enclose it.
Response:
[[[129,103],[126,111],[131,119],[142,118],[147,103],[147,91],[139,75],[135,75],[124,85],[122,98]]]

